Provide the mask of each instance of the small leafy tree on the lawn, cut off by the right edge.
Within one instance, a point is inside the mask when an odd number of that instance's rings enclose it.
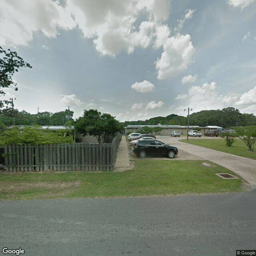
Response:
[[[256,141],[256,125],[235,127],[236,136],[239,137],[248,146],[250,152],[253,152]]]

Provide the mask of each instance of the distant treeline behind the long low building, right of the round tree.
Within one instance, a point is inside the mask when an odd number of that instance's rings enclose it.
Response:
[[[157,116],[147,120],[125,121],[123,125],[181,125],[188,124],[188,118],[171,114],[166,117]],[[220,126],[230,128],[232,126],[256,125],[256,116],[254,114],[241,114],[238,109],[228,107],[222,110],[202,110],[200,112],[190,113],[189,124],[194,126]]]

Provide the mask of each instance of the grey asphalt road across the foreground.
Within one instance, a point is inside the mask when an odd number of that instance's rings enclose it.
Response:
[[[26,256],[235,256],[256,250],[255,212],[256,190],[1,201],[0,249],[22,248]]]

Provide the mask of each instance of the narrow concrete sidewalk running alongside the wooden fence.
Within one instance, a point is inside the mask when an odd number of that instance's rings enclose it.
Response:
[[[119,144],[114,170],[122,170],[124,168],[126,168],[126,170],[130,168],[130,160],[126,139],[123,135],[122,140]]]

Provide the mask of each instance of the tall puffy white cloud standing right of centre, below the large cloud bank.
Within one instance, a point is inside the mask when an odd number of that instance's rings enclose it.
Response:
[[[165,79],[185,70],[194,55],[194,47],[190,35],[177,34],[168,38],[164,44],[164,52],[156,61],[158,79]]]

